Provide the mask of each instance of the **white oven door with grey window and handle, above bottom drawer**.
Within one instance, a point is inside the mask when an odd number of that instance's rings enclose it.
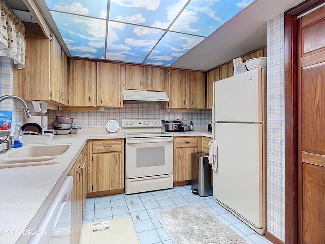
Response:
[[[173,173],[173,137],[127,138],[126,179]]]

